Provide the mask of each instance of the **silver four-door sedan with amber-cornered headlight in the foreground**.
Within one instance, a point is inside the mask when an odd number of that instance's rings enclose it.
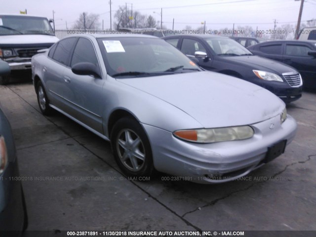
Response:
[[[297,128],[268,90],[202,71],[152,36],[65,38],[32,57],[32,74],[40,111],[110,140],[129,177],[234,180],[282,154]]]

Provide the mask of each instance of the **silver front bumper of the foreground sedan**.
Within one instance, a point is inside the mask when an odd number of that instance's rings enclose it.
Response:
[[[223,183],[247,175],[263,164],[269,147],[282,140],[289,144],[297,129],[292,117],[280,124],[278,115],[252,124],[255,135],[250,139],[197,144],[182,141],[157,127],[142,125],[151,142],[155,168],[196,183]]]

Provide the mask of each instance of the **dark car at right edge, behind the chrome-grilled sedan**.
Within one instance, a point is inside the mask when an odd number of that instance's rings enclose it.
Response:
[[[316,40],[278,40],[248,47],[255,55],[295,68],[305,88],[316,88]]]

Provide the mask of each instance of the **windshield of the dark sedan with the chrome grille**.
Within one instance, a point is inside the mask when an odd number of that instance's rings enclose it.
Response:
[[[208,38],[206,42],[217,55],[241,56],[252,55],[252,53],[235,40],[228,38]]]

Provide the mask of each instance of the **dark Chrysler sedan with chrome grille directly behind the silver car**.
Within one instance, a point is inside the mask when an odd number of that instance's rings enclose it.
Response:
[[[254,56],[228,37],[211,35],[178,35],[164,40],[181,50],[205,70],[218,72],[260,85],[285,103],[302,96],[300,74],[285,64]]]

